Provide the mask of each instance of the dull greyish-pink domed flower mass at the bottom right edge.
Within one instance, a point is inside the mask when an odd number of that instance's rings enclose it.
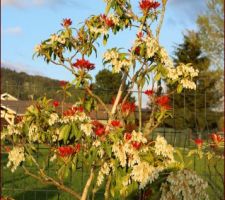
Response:
[[[168,199],[209,199],[206,193],[207,182],[196,173],[184,169],[172,172],[167,177],[167,182],[162,183],[160,200]]]

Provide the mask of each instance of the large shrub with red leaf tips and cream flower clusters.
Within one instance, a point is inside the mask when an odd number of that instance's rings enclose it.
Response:
[[[207,199],[207,183],[174,158],[177,152],[165,138],[158,135],[150,139],[152,131],[170,116],[169,95],[158,93],[159,82],[174,85],[174,92],[180,93],[184,88],[195,89],[193,78],[198,75],[191,64],[175,67],[159,44],[167,0],[140,0],[138,13],[129,0],[105,3],[104,14],[92,15],[78,29],[73,28],[71,19],[64,19],[57,33],[36,46],[37,57],[64,67],[74,81],[60,82],[62,102],[41,98],[17,124],[4,130],[2,138],[13,144],[8,149],[7,166],[12,172],[22,167],[34,179],[52,184],[74,199],[95,199],[99,189],[104,190],[102,199]],[[136,35],[130,48],[114,47],[103,55],[105,66],[113,73],[122,73],[117,96],[112,106],[107,106],[92,89],[95,61],[90,57],[98,56],[98,43],[107,45],[113,34],[126,29]],[[124,91],[125,84],[129,85],[128,91]],[[148,89],[143,91],[146,86]],[[70,87],[82,88],[85,98],[64,109]],[[138,89],[136,104],[128,100],[133,88]],[[143,95],[151,104],[145,122]],[[62,110],[57,112],[60,105]],[[107,122],[89,116],[99,105],[109,116]],[[41,163],[35,156],[36,144],[48,146]],[[52,177],[46,172],[49,160],[56,169]],[[37,170],[30,171],[28,163]],[[80,193],[80,188],[66,185],[65,180],[70,173],[76,174],[81,164],[88,178]]]

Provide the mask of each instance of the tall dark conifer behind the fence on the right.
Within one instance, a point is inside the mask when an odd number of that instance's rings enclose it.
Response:
[[[213,109],[218,106],[222,96],[216,87],[222,78],[221,70],[210,69],[210,60],[203,54],[199,34],[196,32],[188,31],[184,35],[184,42],[176,47],[174,54],[175,65],[192,63],[199,70],[199,76],[195,92],[186,89],[181,95],[171,97],[174,119],[167,119],[165,124],[174,128],[197,130],[214,128],[220,117]],[[172,89],[168,87],[169,91]]]

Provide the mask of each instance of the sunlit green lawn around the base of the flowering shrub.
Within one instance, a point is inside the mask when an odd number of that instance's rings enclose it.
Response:
[[[40,149],[42,153],[45,150]],[[186,155],[186,151],[183,148],[180,148],[180,151],[183,155]],[[41,160],[41,157],[39,158]],[[189,163],[189,168],[195,169],[199,175],[201,175],[205,180],[211,181],[214,189],[209,187],[208,193],[211,200],[219,200],[218,197],[221,193],[223,195],[223,184],[220,177],[216,176],[215,170],[211,171],[211,176],[209,169],[206,165],[206,159],[198,159],[196,156],[191,156],[187,158],[184,156],[184,161],[186,164]],[[67,193],[58,191],[54,186],[44,185],[31,177],[28,177],[23,174],[23,170],[18,168],[15,173],[6,168],[7,155],[3,154],[2,156],[2,167],[3,167],[3,180],[2,180],[2,189],[3,196],[13,197],[15,200],[71,200],[71,196]],[[224,176],[224,161],[221,160],[218,163],[218,170]],[[85,169],[84,169],[85,171]],[[48,169],[48,174],[51,176],[56,175],[54,166],[51,166]],[[70,176],[66,183],[71,188],[78,188],[81,192],[82,185],[85,183],[87,176],[85,173],[82,173],[81,170],[78,170],[77,173],[73,176]],[[103,191],[100,191],[96,194],[96,199],[103,199]]]

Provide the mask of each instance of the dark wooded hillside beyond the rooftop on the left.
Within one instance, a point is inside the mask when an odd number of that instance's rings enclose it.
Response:
[[[1,93],[7,92],[18,99],[28,100],[31,95],[34,99],[46,95],[48,98],[61,100],[61,95],[57,94],[59,90],[59,80],[43,76],[28,75],[24,72],[16,72],[8,68],[1,68]],[[71,92],[77,95],[72,95],[69,102],[74,102],[78,99],[81,92],[72,89]]]

